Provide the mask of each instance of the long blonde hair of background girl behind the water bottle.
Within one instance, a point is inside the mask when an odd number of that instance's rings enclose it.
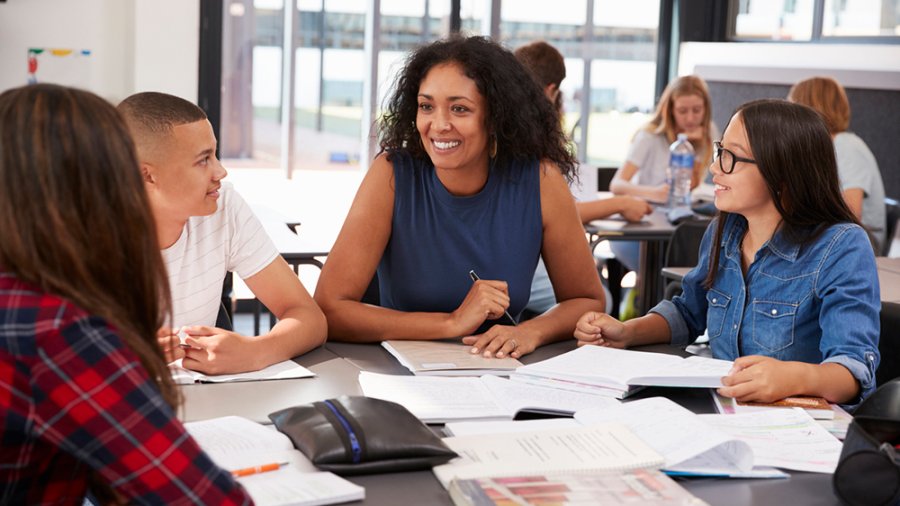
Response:
[[[712,101],[706,82],[695,75],[682,76],[670,82],[663,90],[662,97],[656,105],[653,119],[647,123],[644,130],[654,134],[663,134],[669,143],[675,142],[678,135],[674,112],[675,99],[688,95],[696,95],[703,99],[703,139],[699,143],[693,143],[695,156],[691,187],[695,187],[703,180],[703,173],[712,160]]]

